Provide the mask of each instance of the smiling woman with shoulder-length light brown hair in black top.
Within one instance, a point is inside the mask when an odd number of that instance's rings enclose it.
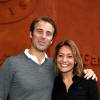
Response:
[[[95,80],[83,77],[83,63],[72,40],[60,42],[55,49],[55,78],[52,100],[99,100]]]

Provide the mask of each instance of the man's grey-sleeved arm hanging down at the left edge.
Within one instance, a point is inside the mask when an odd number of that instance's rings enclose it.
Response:
[[[0,67],[0,100],[7,100],[11,77],[11,64],[9,60],[6,60]]]

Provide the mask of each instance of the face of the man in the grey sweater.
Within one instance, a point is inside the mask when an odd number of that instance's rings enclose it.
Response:
[[[54,28],[45,21],[39,21],[34,28],[30,37],[32,39],[32,47],[38,51],[45,51],[52,43]]]

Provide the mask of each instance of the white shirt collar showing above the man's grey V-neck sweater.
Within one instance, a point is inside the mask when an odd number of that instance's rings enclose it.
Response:
[[[33,61],[36,62],[37,64],[43,64],[44,61],[45,61],[45,58],[48,58],[47,54],[45,53],[45,57],[42,59],[41,62],[39,62],[38,59],[37,59],[37,57],[36,57],[35,55],[29,54],[29,49],[25,49],[24,53],[25,53],[25,55],[26,55],[29,59],[33,60]]]

